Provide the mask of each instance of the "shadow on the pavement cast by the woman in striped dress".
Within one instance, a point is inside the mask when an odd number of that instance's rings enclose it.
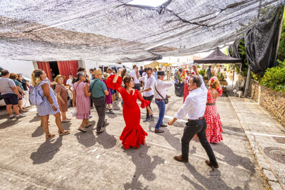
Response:
[[[56,140],[46,140],[39,146],[36,152],[32,152],[30,158],[33,160],[34,165],[41,165],[54,158],[54,155],[60,150],[59,148],[63,141],[63,136],[59,136]]]

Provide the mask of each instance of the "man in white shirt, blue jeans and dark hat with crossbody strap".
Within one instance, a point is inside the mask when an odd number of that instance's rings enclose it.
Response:
[[[154,129],[155,133],[163,133],[164,131],[160,129],[160,127],[167,127],[167,125],[163,124],[163,118],[165,117],[165,97],[166,88],[171,87],[175,81],[171,80],[170,82],[164,82],[165,72],[158,72],[158,80],[154,85],[154,96],[156,98],[156,105],[158,105],[159,117],[158,122],[156,123],[156,128]]]

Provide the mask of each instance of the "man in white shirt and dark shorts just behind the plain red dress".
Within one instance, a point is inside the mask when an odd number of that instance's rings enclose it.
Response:
[[[154,82],[156,82],[156,78],[154,78],[154,76],[151,74],[151,68],[147,67],[146,70],[146,75],[142,76],[140,78],[138,78],[138,81],[144,81],[145,82],[145,89],[142,89],[142,91],[140,93],[142,94],[142,97],[146,100],[146,101],[152,101],[152,99],[154,98]],[[151,109],[151,104],[149,104],[149,108]],[[152,109],[151,109],[152,111]],[[145,118],[145,120],[143,120],[143,122],[147,122],[149,120],[154,120],[154,116],[149,116],[149,112],[147,111],[147,117]]]

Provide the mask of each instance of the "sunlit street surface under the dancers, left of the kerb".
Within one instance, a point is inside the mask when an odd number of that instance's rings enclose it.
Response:
[[[167,105],[167,123],[182,98],[173,96]],[[103,134],[96,135],[98,117],[92,109],[92,127],[86,133],[77,130],[81,120],[72,118],[63,123],[71,129],[67,136],[56,135],[45,141],[40,118],[34,109],[27,117],[9,120],[0,116],[0,189],[266,189],[262,171],[246,139],[228,97],[218,99],[224,140],[213,145],[220,167],[211,169],[204,161],[207,154],[197,137],[190,142],[189,163],[173,160],[180,155],[184,124],[178,120],[154,134],[155,122],[142,123],[147,131],[145,145],[140,149],[123,149],[119,140],[125,127],[121,107],[116,114],[107,114],[110,123]],[[158,109],[152,103],[157,120]],[[141,109],[142,119],[145,109]],[[131,113],[130,113],[131,114]],[[69,109],[67,116],[72,115]],[[50,131],[56,134],[54,117]]]

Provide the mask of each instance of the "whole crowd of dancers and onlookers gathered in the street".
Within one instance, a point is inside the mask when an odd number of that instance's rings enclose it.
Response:
[[[47,74],[43,70],[34,70],[32,72],[32,81],[28,83],[21,78],[21,74],[10,73],[8,70],[1,70],[0,78],[1,96],[6,103],[7,111],[10,118],[22,118],[25,115],[20,112],[27,112],[25,107],[30,106],[29,87],[31,98],[37,108],[37,112],[41,117],[41,125],[45,131],[45,139],[50,140],[55,134],[49,131],[49,116],[54,115],[56,125],[59,128],[59,135],[70,134],[70,130],[65,130],[62,123],[70,122],[71,118],[67,118],[68,103],[72,101],[73,116],[78,120],[82,120],[78,130],[86,132],[87,128],[92,124],[89,118],[92,118],[90,109],[95,107],[98,114],[98,122],[96,126],[96,134],[104,132],[103,127],[109,125],[105,119],[106,108],[108,106],[109,114],[112,112],[111,105],[116,105],[118,93],[122,97],[121,105],[123,106],[123,118],[125,120],[125,128],[120,135],[123,147],[139,148],[145,144],[145,136],[147,133],[140,126],[140,108],[137,99],[141,102],[140,107],[147,110],[147,115],[143,122],[154,121],[151,109],[151,101],[154,100],[158,107],[158,120],[154,129],[155,133],[163,133],[162,127],[167,127],[163,123],[165,117],[165,106],[171,96],[167,95],[167,87],[171,87],[177,82],[178,75],[183,75],[184,98],[183,104],[178,112],[173,116],[173,120],[168,125],[173,125],[178,119],[186,117],[189,121],[184,129],[182,136],[182,155],[174,156],[175,160],[180,162],[189,161],[189,142],[197,134],[202,147],[209,156],[206,161],[211,167],[218,167],[218,163],[211,149],[210,142],[218,143],[222,140],[222,123],[215,106],[217,98],[222,95],[218,78],[215,73],[211,73],[213,77],[209,78],[209,89],[204,84],[203,77],[198,73],[198,68],[193,65],[189,70],[174,69],[171,67],[156,68],[138,67],[133,65],[133,70],[127,75],[127,70],[121,67],[114,71],[111,68],[107,72],[101,69],[90,69],[87,74],[85,68],[79,67],[76,77],[69,76],[66,81],[67,86],[72,92],[72,97],[67,93],[64,85],[65,76],[60,74],[54,77],[56,82],[55,88],[52,89],[52,83],[47,78]],[[172,75],[172,76],[171,76]],[[167,76],[167,78],[165,78]],[[174,80],[173,80],[173,79]],[[142,87],[142,90],[140,89]],[[14,114],[12,114],[12,108]]]

